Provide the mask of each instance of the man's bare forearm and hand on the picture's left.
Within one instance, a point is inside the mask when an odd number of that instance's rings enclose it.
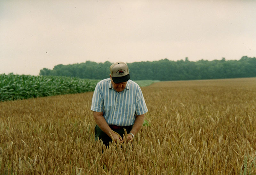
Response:
[[[93,111],[93,117],[97,125],[100,127],[100,129],[106,133],[109,137],[113,137],[114,141],[120,141],[123,142],[123,139],[119,137],[116,133],[112,131],[112,129],[108,126],[108,123],[106,122],[105,118],[103,117],[103,112],[95,112]],[[142,122],[143,124],[143,122]]]

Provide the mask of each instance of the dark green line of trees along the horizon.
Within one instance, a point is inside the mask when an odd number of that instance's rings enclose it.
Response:
[[[109,77],[111,62],[59,64],[51,69],[41,69],[39,75],[67,76],[86,79],[105,79]],[[256,58],[243,56],[240,60],[185,60],[162,59],[153,62],[127,63],[132,80],[196,80],[256,77]]]

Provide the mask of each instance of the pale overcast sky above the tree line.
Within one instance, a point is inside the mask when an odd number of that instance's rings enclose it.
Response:
[[[58,64],[256,56],[253,0],[1,0],[0,74]]]

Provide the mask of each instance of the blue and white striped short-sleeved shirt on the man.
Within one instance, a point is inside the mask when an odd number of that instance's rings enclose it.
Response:
[[[103,112],[108,125],[133,125],[135,116],[148,112],[143,94],[138,84],[128,80],[121,92],[116,92],[110,78],[101,80],[92,97],[92,111]]]

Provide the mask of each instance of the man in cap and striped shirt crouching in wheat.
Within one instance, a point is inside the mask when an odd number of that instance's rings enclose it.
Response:
[[[112,64],[109,76],[96,85],[91,106],[97,124],[95,140],[99,137],[106,146],[112,138],[115,142],[123,142],[124,129],[129,133],[126,142],[131,141],[148,112],[139,85],[130,80],[126,63]]]

